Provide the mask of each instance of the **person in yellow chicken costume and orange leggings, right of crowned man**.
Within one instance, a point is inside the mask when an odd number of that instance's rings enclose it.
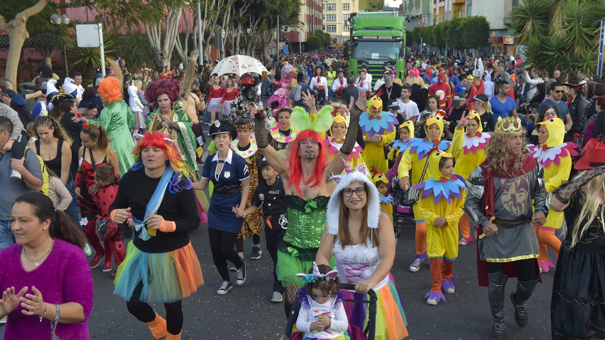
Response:
[[[572,142],[563,143],[565,126],[563,120],[552,117],[538,123],[538,143],[540,145],[529,146],[531,155],[544,167],[544,187],[547,192],[553,192],[563,183],[569,180],[571,172],[571,156],[578,155],[575,148],[578,145]],[[548,249],[551,247],[555,255],[559,256],[561,241],[555,236],[555,230],[560,229],[564,221],[562,211],[554,211],[549,208],[546,215],[546,223],[538,226],[538,244],[540,246],[540,258],[538,266],[541,271],[548,272],[555,265],[548,258]]]

